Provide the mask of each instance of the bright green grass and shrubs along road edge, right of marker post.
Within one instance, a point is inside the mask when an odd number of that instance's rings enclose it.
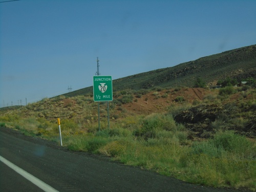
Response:
[[[214,187],[255,190],[255,142],[233,131],[218,131],[213,138],[191,141],[185,127],[172,124],[169,116],[143,118],[140,129],[155,130],[154,137],[136,139],[126,129],[105,129],[94,134],[71,136],[67,147],[74,151],[103,154],[127,165],[139,166],[165,176]]]

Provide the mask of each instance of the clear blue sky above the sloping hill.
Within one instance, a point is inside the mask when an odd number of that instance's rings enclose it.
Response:
[[[4,2],[4,0],[0,0]],[[0,107],[256,44],[254,0],[0,3]]]

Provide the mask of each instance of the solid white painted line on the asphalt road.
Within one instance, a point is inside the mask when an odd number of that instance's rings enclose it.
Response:
[[[15,170],[15,172],[17,172],[18,174],[22,175],[23,177],[25,177],[30,182],[34,183],[36,186],[38,186],[42,190],[44,190],[46,192],[59,192],[55,188],[51,187],[50,185],[46,184],[45,182],[41,181],[40,179],[37,179],[35,176],[33,176],[33,175],[29,174],[28,172],[26,172],[26,170],[23,170],[22,168],[19,168],[18,166],[14,165],[13,163],[8,161],[4,157],[0,156],[0,161],[2,161],[7,166],[9,166],[13,170]]]

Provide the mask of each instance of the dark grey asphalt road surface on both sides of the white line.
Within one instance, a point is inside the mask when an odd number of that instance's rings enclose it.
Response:
[[[102,156],[69,152],[55,143],[3,127],[0,156],[58,191],[236,191],[188,184]],[[1,161],[0,168],[0,191],[42,191]]]

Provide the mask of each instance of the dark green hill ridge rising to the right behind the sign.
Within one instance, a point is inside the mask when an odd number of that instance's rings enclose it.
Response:
[[[256,76],[256,45],[233,49],[180,63],[174,67],[157,69],[113,80],[113,91],[152,89],[154,87],[193,87],[200,77],[208,87],[220,79],[231,77],[241,81]],[[93,92],[93,87],[64,94],[67,97]]]

